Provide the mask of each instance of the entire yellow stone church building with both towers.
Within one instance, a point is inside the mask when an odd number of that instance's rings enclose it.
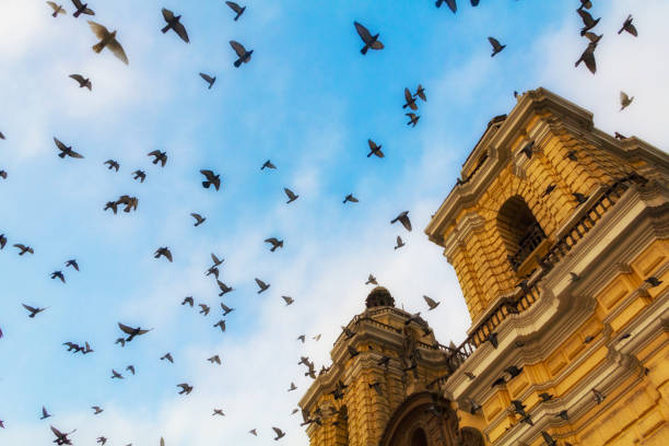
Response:
[[[544,90],[493,118],[425,233],[460,345],[374,289],[302,398],[310,446],[669,445],[669,156]]]

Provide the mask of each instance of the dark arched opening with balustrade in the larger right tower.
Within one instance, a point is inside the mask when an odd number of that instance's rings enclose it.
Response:
[[[545,238],[539,222],[520,196],[509,198],[500,208],[497,230],[514,271]]]

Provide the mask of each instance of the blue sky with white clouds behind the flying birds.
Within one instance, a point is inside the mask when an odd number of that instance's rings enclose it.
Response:
[[[574,62],[587,46],[577,1],[249,0],[237,21],[222,0],[91,0],[96,22],[117,30],[129,66],[97,40],[85,16],[51,17],[40,0],[4,0],[0,15],[0,445],[47,444],[49,423],[78,431],[74,444],[306,445],[300,414],[317,368],[341,330],[364,310],[373,273],[396,305],[421,312],[442,343],[470,325],[453,268],[423,233],[461,164],[514,91],[544,86],[591,110],[596,127],[666,150],[669,130],[669,3],[594,1],[603,33],[592,75]],[[190,44],[162,34],[162,8],[181,14]],[[634,15],[638,37],[617,31]],[[385,49],[360,54],[353,21]],[[494,58],[488,36],[507,47]],[[228,40],[254,49],[234,68]],[[216,75],[211,90],[199,72]],[[72,73],[90,78],[79,89]],[[415,128],[403,89],[425,87]],[[619,94],[634,96],[619,111]],[[61,160],[56,137],[84,155]],[[384,159],[366,157],[367,139]],[[146,153],[166,151],[164,168]],[[103,165],[114,159],[118,173]],[[275,171],[260,171],[266,160]],[[146,180],[131,172],[146,172]],[[199,171],[221,174],[203,189]],[[286,204],[283,188],[300,198]],[[137,212],[104,212],[121,195]],[[359,203],[342,203],[354,193]],[[413,231],[389,222],[409,211]],[[191,212],[207,221],[193,227]],[[407,245],[394,249],[400,235]],[[284,240],[269,251],[263,239]],[[34,255],[17,256],[15,243]],[[168,246],[174,262],[154,259]],[[225,259],[223,298],[204,277],[210,254]],[[64,268],[75,258],[81,271]],[[51,280],[62,270],[67,283]],[[254,281],[271,284],[257,293]],[[191,295],[211,306],[181,306]],[[295,303],[285,306],[282,295]],[[432,312],[422,296],[441,305]],[[219,304],[236,308],[225,317]],[[21,304],[48,307],[34,319]],[[125,348],[117,322],[153,328]],[[306,334],[303,344],[297,336]],[[321,333],[319,341],[313,339]],[[94,353],[62,345],[87,341]],[[174,364],[160,361],[166,352]],[[207,357],[219,354],[222,365]],[[127,365],[137,374],[129,375]],[[110,379],[111,369],[125,379]],[[297,390],[287,392],[294,382]],[[179,396],[176,385],[193,391]],[[52,418],[40,421],[42,407]],[[93,415],[91,406],[104,412]],[[212,416],[213,409],[225,416]],[[258,437],[248,434],[258,430]]]

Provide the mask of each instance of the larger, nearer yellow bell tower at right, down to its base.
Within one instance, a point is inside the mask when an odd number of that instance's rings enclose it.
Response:
[[[526,92],[425,232],[472,320],[444,396],[481,404],[469,421],[489,444],[667,444],[667,153]]]

